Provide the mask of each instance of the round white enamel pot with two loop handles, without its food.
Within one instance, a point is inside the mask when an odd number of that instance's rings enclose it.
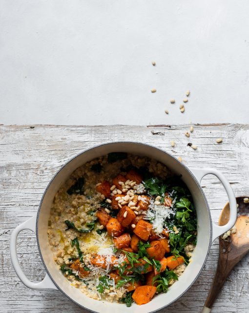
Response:
[[[133,304],[130,308],[127,308],[125,304],[108,303],[104,301],[94,300],[84,295],[80,290],[72,288],[69,281],[62,275],[62,272],[55,264],[48,243],[47,224],[49,219],[50,206],[57,190],[60,188],[62,183],[71,175],[71,173],[79,166],[96,157],[103,156],[110,152],[127,152],[140,156],[148,156],[164,163],[175,174],[182,175],[182,179],[186,183],[193,196],[193,201],[196,207],[198,219],[198,239],[197,246],[192,257],[192,262],[187,266],[185,272],[179,278],[179,281],[173,284],[167,293],[155,296],[151,302],[142,306]],[[213,174],[218,179],[220,179],[228,194],[228,200],[230,204],[230,219],[228,221],[228,224],[224,226],[218,226],[216,224],[213,224],[211,221],[207,199],[200,186],[202,178],[207,174]],[[237,207],[235,196],[227,179],[225,179],[225,177],[219,171],[210,168],[188,169],[175,157],[158,148],[146,144],[135,142],[114,142],[100,145],[84,151],[80,155],[75,156],[64,166],[62,166],[62,168],[57,172],[57,174],[48,184],[42,196],[37,215],[14,229],[10,240],[10,256],[13,267],[15,268],[18,277],[25,286],[31,289],[60,290],[73,302],[92,312],[154,312],[174,302],[176,299],[182,296],[195,282],[205,265],[211,243],[215,238],[228,231],[228,229],[230,229],[235,224],[236,216]],[[29,281],[28,278],[24,275],[18,262],[16,242],[19,232],[23,229],[30,229],[35,232],[37,236],[37,243],[40,255],[43,265],[46,269],[45,278],[39,283]]]

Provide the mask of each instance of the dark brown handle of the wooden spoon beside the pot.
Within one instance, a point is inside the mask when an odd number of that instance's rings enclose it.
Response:
[[[221,238],[220,240],[220,249],[219,249],[219,260],[218,260],[218,265],[216,269],[216,273],[213,279],[213,283],[211,286],[211,289],[208,293],[207,300],[205,302],[205,306],[203,307],[202,313],[209,313],[211,311],[211,307],[221,291],[222,286],[224,285],[226,278],[228,277],[231,269],[234,267],[233,262],[228,262],[228,251],[223,252],[223,241]]]

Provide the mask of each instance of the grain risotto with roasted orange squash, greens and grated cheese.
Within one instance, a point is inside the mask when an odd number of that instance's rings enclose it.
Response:
[[[197,240],[187,186],[147,157],[110,153],[79,167],[54,197],[48,238],[65,279],[96,300],[138,305],[167,292]]]

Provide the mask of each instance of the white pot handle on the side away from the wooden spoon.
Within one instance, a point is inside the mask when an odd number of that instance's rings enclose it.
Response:
[[[21,282],[28,288],[31,289],[55,289],[58,290],[55,284],[52,282],[51,278],[48,276],[46,272],[45,277],[39,283],[34,283],[28,280],[27,276],[23,273],[21,266],[17,257],[17,237],[21,230],[30,229],[34,233],[36,233],[36,218],[37,216],[33,216],[31,219],[17,226],[11,236],[10,236],[10,258],[13,264],[13,267],[20,278]]]

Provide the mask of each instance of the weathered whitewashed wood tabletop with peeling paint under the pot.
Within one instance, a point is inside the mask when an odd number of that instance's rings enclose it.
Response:
[[[214,167],[228,178],[236,196],[249,195],[249,125],[160,126],[0,126],[0,313],[80,313],[83,309],[60,291],[33,291],[22,285],[9,257],[12,229],[38,209],[42,193],[64,162],[84,149],[117,140],[141,141],[182,156],[189,167]],[[217,144],[216,138],[223,137]],[[171,147],[174,140],[176,146]],[[187,146],[198,146],[194,151]],[[208,175],[202,186],[215,221],[227,201],[218,180]],[[36,238],[23,231],[18,238],[21,267],[30,280],[39,281],[44,268]],[[167,313],[198,313],[205,302],[216,268],[218,241],[211,247],[206,266],[196,283]],[[249,255],[232,271],[212,312],[249,312]]]

